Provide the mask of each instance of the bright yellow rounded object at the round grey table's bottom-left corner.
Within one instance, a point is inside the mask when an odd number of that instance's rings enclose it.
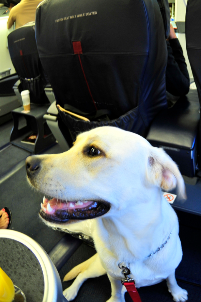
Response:
[[[11,302],[14,295],[15,289],[12,280],[0,268],[0,302]]]

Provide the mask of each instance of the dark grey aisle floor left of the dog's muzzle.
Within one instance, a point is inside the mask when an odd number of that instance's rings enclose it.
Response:
[[[27,181],[25,160],[30,153],[9,144],[12,121],[0,126],[0,207],[9,207],[13,220],[10,229],[22,232],[36,240],[49,252],[64,233],[48,228],[39,219],[42,194]],[[55,144],[44,153],[61,153]]]

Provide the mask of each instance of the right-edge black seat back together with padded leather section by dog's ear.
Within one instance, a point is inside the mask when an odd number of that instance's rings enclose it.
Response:
[[[200,28],[200,12],[199,2],[189,0],[186,11],[186,43],[197,91],[190,89],[189,93],[180,97],[173,107],[161,111],[154,118],[146,137],[153,146],[165,149],[179,166],[181,174],[190,178],[196,176],[199,169],[197,150],[200,146],[198,129],[201,127],[199,114],[201,40],[197,29]]]

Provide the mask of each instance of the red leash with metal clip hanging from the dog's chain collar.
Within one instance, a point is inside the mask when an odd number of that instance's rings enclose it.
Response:
[[[135,287],[135,281],[128,278],[128,275],[130,275],[130,269],[126,265],[121,265],[121,261],[119,262],[119,268],[122,270],[122,274],[124,274],[125,278],[121,280],[121,283],[125,286],[133,302],[142,302]]]

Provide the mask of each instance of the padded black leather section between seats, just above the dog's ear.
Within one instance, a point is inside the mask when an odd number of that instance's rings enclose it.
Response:
[[[182,175],[196,176],[199,101],[196,90],[178,99],[173,107],[154,118],[146,139],[162,147],[177,163]]]

